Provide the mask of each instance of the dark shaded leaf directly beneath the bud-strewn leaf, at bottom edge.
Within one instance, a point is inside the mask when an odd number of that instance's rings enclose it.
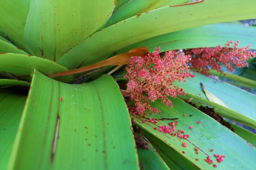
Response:
[[[188,159],[184,158],[180,153],[172,149],[168,144],[164,143],[154,135],[143,130],[143,134],[148,137],[148,140],[153,144],[157,152],[162,156],[170,169],[198,169]]]

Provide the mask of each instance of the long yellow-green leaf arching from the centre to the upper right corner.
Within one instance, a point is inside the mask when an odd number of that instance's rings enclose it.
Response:
[[[102,61],[120,48],[165,33],[213,23],[255,18],[255,5],[256,1],[250,0],[214,0],[159,8],[92,34],[65,53],[58,63],[68,69],[75,69]]]

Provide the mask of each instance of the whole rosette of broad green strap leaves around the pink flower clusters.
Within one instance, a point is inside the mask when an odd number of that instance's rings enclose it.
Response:
[[[114,66],[46,76],[139,47],[163,52],[239,40],[240,47],[255,49],[255,27],[237,21],[255,18],[255,6],[251,0],[2,0],[0,169],[255,169],[254,134],[243,128],[235,134],[184,101],[193,97],[191,102],[255,129],[252,93],[193,72],[195,78],[177,83],[187,92],[183,100],[172,99],[172,108],[155,101],[161,114],[140,117],[129,114],[120,92],[122,68],[112,74],[118,84],[105,74]],[[233,84],[255,88],[255,70],[240,73],[227,75]],[[82,83],[72,84],[81,75]],[[136,142],[131,118],[140,127]],[[158,130],[174,121],[174,130],[189,138]],[[137,141],[147,149],[137,150]],[[218,162],[214,154],[225,158]]]

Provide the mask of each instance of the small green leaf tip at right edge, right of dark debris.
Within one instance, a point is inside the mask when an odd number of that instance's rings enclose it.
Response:
[[[240,126],[237,126],[233,123],[230,123],[231,127],[234,128],[235,133],[239,135],[240,137],[244,138],[247,142],[252,144],[253,146],[256,146],[256,135]]]

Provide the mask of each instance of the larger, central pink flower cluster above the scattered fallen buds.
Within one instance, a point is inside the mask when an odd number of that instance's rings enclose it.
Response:
[[[149,105],[149,100],[161,99],[166,106],[172,107],[172,101],[167,96],[186,94],[173,82],[185,82],[185,78],[194,77],[188,70],[190,60],[190,55],[177,54],[172,50],[160,56],[160,48],[146,56],[133,56],[124,77],[128,79],[127,90],[132,92],[130,99],[135,102],[136,111],[143,114],[149,109],[150,112],[160,113]]]

